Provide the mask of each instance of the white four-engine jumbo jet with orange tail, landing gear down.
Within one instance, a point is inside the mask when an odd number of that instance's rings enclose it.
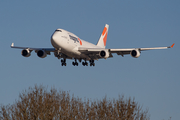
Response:
[[[132,57],[138,58],[141,51],[167,49],[173,48],[174,46],[174,44],[172,44],[169,47],[107,49],[106,40],[108,29],[109,25],[106,24],[96,45],[84,41],[75,34],[64,29],[56,29],[51,36],[51,44],[53,48],[17,47],[14,46],[14,43],[11,44],[11,48],[23,49],[21,54],[24,57],[29,57],[33,50],[40,58],[45,58],[47,55],[50,55],[50,53],[53,52],[55,57],[61,59],[62,66],[66,66],[66,59],[74,59],[72,62],[72,65],[74,66],[78,66],[77,60],[79,62],[83,60],[83,66],[88,66],[87,61],[89,61],[90,66],[95,66],[95,60],[112,58],[113,53],[121,55],[122,57],[124,57],[124,55],[130,54]]]

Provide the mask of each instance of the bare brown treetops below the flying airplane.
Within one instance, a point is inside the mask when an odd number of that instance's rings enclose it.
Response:
[[[131,98],[82,100],[69,92],[49,92],[43,86],[29,88],[20,93],[12,105],[0,107],[3,120],[149,120],[148,111]]]

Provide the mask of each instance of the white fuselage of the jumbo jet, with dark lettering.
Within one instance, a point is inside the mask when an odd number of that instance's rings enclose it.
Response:
[[[72,58],[83,58],[88,59],[89,57],[78,51],[82,48],[100,48],[92,43],[81,40],[79,37],[63,29],[57,29],[52,37],[51,44],[55,49],[60,51]]]

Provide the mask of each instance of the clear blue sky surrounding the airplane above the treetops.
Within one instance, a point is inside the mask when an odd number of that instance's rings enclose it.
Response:
[[[31,0],[0,1],[0,104],[12,104],[35,84],[56,87],[80,98],[134,97],[149,108],[152,120],[179,119],[180,114],[180,1],[179,0]],[[137,59],[114,54],[95,67],[62,67],[51,56],[21,56],[17,46],[52,47],[55,29],[73,32],[97,43],[109,24],[107,48],[170,46],[143,51]]]

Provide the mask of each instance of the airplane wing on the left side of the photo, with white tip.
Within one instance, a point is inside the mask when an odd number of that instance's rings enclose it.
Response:
[[[18,47],[14,46],[14,43],[11,44],[11,48],[17,48],[17,49],[28,49],[29,51],[39,51],[39,50],[44,50],[47,54],[50,54],[50,52],[54,52],[56,49],[55,48],[31,48],[31,47]]]

